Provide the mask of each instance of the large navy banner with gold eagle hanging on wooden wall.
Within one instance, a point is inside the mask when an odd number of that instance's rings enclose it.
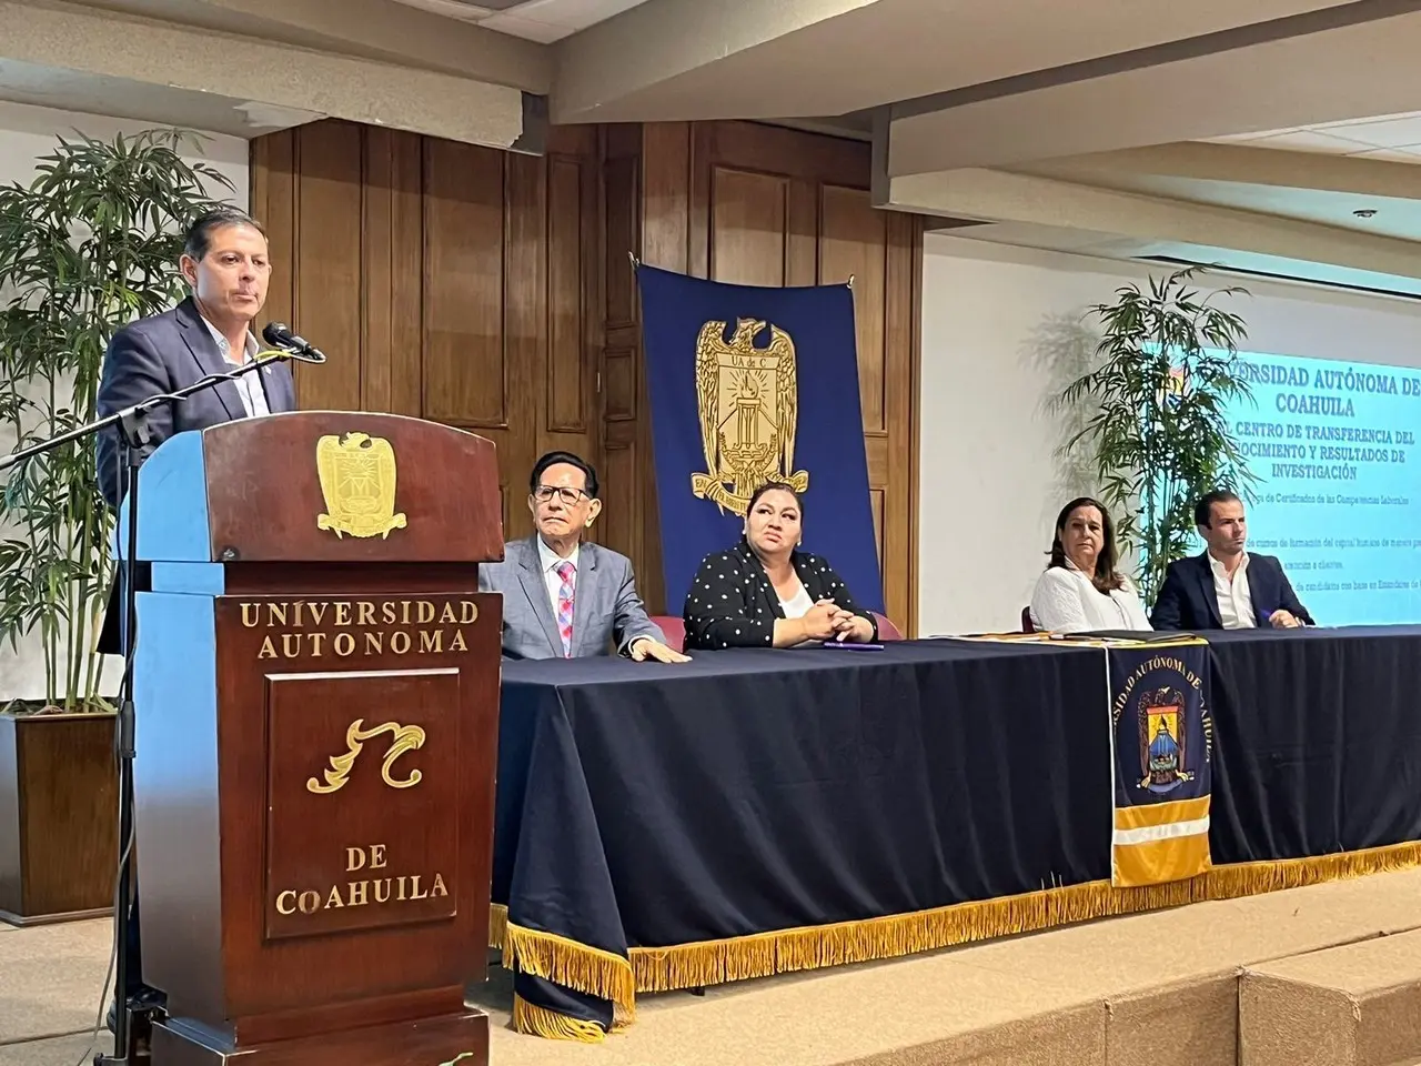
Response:
[[[742,534],[769,480],[803,493],[806,551],[868,610],[882,584],[848,284],[732,286],[638,266],[666,610]]]

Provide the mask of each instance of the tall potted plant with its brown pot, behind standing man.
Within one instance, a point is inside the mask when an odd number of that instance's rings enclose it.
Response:
[[[189,134],[60,138],[28,185],[0,188],[0,426],[23,448],[95,418],[109,337],[183,294],[182,230],[232,183],[189,163]],[[44,698],[0,694],[0,918],[112,907],[114,712],[94,652],[114,516],[94,442],[0,485],[0,642],[38,642]],[[114,684],[114,679],[109,679]]]

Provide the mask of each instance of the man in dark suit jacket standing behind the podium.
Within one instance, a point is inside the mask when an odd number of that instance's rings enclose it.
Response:
[[[192,291],[171,311],[125,325],[108,344],[98,387],[98,414],[111,415],[162,392],[192,385],[212,374],[229,374],[260,350],[252,323],[266,303],[271,263],[261,226],[236,208],[216,208],[188,229],[179,269]],[[240,384],[239,384],[240,382]],[[173,434],[206,429],[237,418],[296,409],[296,388],[284,362],[263,367],[239,381],[225,381],[148,415],[149,442],[144,459]],[[118,507],[125,489],[118,429],[98,438],[98,476],[104,499]],[[119,549],[126,542],[119,542]],[[146,567],[134,567],[134,586],[149,587]],[[121,654],[122,576],[109,590],[98,650]],[[142,984],[138,893],[128,914],[129,1003],[151,1008],[162,996]],[[109,1028],[117,1012],[109,1012]],[[119,1049],[122,1055],[125,1049]]]

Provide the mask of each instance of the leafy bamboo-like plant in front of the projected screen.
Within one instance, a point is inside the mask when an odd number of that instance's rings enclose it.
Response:
[[[1154,600],[1165,567],[1189,550],[1194,503],[1229,488],[1245,499],[1256,482],[1229,432],[1228,407],[1250,397],[1238,362],[1243,320],[1215,306],[1231,287],[1201,294],[1199,267],[1115,290],[1087,314],[1103,335],[1097,365],[1057,397],[1059,409],[1091,411],[1064,445],[1084,452],[1125,550],[1140,557],[1140,593]]]

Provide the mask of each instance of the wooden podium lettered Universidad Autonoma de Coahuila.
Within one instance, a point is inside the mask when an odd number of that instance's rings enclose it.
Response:
[[[315,411],[144,465],[135,671],[156,1066],[487,1062],[493,443]]]

